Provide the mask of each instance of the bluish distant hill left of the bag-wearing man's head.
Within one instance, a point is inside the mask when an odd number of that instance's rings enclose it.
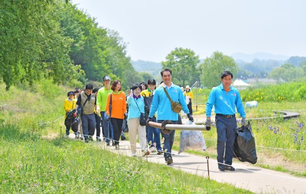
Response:
[[[131,62],[136,71],[148,72],[154,77],[159,75],[162,70],[162,63],[142,61],[142,60],[137,60],[137,61],[132,60]]]

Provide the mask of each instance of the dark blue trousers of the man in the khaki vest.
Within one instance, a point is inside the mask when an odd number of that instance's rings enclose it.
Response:
[[[85,140],[88,139],[92,140],[92,136],[94,135],[95,125],[96,125],[94,114],[89,114],[89,115],[82,114],[81,119],[82,119],[82,129]]]

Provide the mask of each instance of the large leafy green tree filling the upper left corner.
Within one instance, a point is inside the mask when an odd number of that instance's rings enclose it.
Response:
[[[79,76],[80,66],[74,66],[68,56],[72,40],[63,36],[59,24],[58,10],[64,3],[0,2],[0,81],[6,89],[18,81],[32,84],[41,76],[56,83]]]

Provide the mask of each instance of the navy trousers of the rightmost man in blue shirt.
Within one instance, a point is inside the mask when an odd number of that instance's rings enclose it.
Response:
[[[225,118],[216,115],[217,125],[217,160],[220,163],[232,165],[234,142],[236,137],[236,117]],[[224,153],[225,151],[225,153]]]

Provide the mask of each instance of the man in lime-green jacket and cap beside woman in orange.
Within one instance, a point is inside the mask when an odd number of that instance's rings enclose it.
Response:
[[[97,112],[100,112],[102,125],[105,135],[105,142],[107,146],[110,145],[111,137],[114,137],[113,127],[110,121],[106,120],[105,110],[108,94],[112,93],[111,89],[111,78],[109,76],[104,76],[103,78],[104,87],[98,90],[97,94]],[[113,144],[114,146],[114,144]]]

